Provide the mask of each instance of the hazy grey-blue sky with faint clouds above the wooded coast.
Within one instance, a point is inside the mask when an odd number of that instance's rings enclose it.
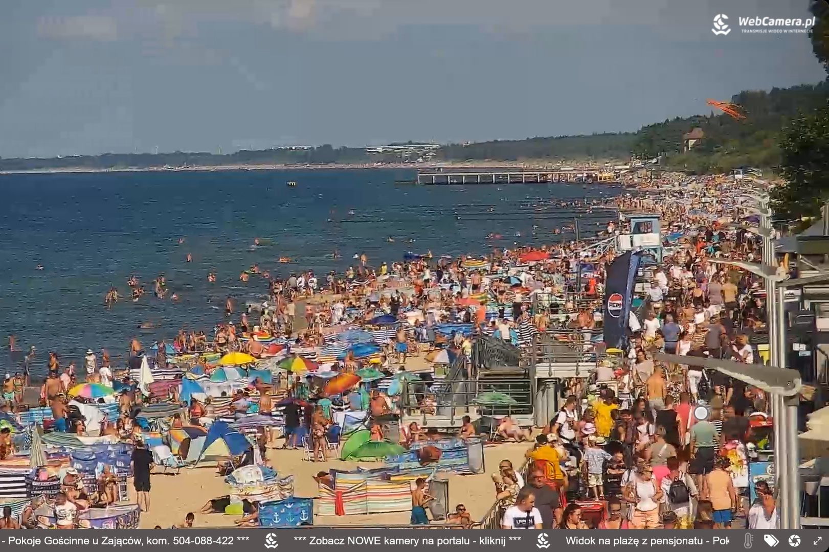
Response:
[[[0,157],[634,131],[826,77],[807,34],[739,27],[808,0],[0,6]]]

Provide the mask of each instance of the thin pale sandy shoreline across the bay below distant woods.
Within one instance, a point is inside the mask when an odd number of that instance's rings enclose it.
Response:
[[[94,167],[62,167],[42,168],[27,171],[0,171],[0,175],[16,174],[85,174],[98,172],[225,172],[225,171],[368,171],[368,170],[408,170],[420,171],[429,169],[484,169],[484,168],[520,168],[524,171],[547,171],[555,170],[552,167],[555,163],[545,163],[542,160],[537,162],[513,162],[513,161],[486,161],[486,162],[439,162],[439,163],[329,163],[319,165],[196,165],[193,167],[118,167],[118,168],[94,168]],[[595,168],[575,166],[577,168]],[[560,167],[559,167],[560,168]],[[646,168],[646,167],[642,167]],[[631,169],[638,170],[638,169]]]

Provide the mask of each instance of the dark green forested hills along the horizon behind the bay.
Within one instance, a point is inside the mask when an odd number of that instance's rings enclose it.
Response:
[[[676,118],[650,124],[635,133],[601,133],[589,136],[560,136],[496,140],[471,144],[448,144],[440,148],[435,161],[575,161],[623,160],[632,154],[643,158],[662,156],[671,167],[696,172],[728,170],[733,167],[776,167],[779,163],[778,135],[781,128],[799,113],[811,113],[827,104],[829,85],[800,85],[788,89],[745,91],[731,102],[742,106],[747,118],[735,120],[712,113]],[[700,127],[705,133],[691,153],[682,153],[682,135]],[[149,167],[216,167],[228,165],[278,165],[331,163],[400,162],[393,154],[370,155],[363,148],[333,148],[323,145],[308,150],[284,149],[215,153],[104,153],[95,156],[48,159],[0,158],[0,171],[38,169],[115,169]]]

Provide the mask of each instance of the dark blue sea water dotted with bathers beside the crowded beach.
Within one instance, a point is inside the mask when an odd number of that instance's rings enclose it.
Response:
[[[395,186],[410,177],[389,170],[0,175],[2,345],[13,333],[18,349],[36,346],[36,374],[51,350],[63,362],[80,361],[87,348],[123,355],[131,337],[152,342],[179,327],[210,331],[229,295],[240,304],[263,297],[263,278],[239,281],[254,263],[283,277],[304,268],[322,276],[346,269],[362,252],[380,264],[406,251],[479,254],[515,241],[549,243],[562,239],[551,230],[575,214],[551,200],[618,193],[565,184]],[[612,217],[582,213],[579,228],[589,235]],[[502,239],[487,240],[493,233]],[[257,237],[262,245],[255,248]],[[342,259],[326,257],[334,250]],[[282,256],[298,264],[279,264]],[[206,281],[211,270],[213,284]],[[148,293],[105,309],[109,286],[128,296],[130,274]],[[177,303],[152,296],[158,274]],[[158,329],[139,331],[148,321]],[[19,362],[4,353],[0,370]]]

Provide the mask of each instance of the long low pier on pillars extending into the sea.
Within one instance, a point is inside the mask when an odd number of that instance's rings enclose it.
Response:
[[[418,172],[412,184],[457,186],[463,184],[552,184],[555,182],[618,182],[618,171],[558,169],[555,171]]]

